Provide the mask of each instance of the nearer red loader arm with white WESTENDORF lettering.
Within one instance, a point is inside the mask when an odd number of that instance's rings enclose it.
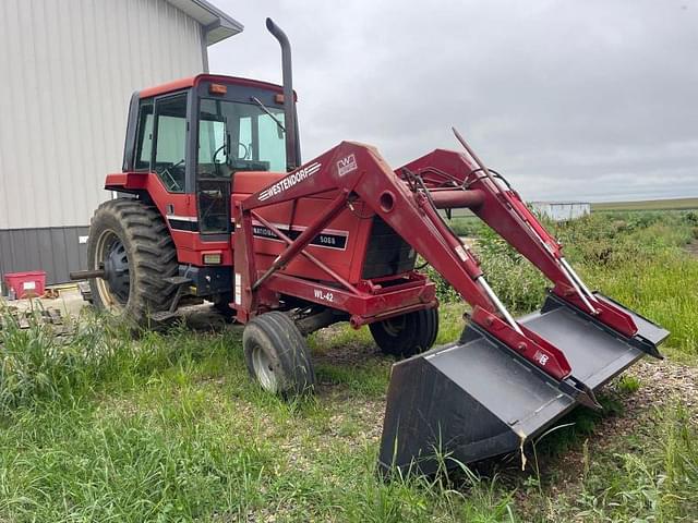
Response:
[[[322,193],[335,195],[325,211],[288,245],[272,267],[258,275],[254,257],[245,254],[253,252],[252,221],[261,219],[255,210]],[[455,198],[469,199],[472,194],[460,188],[450,192]],[[444,198],[444,195],[442,192],[438,197]],[[257,289],[301,254],[340,211],[359,200],[388,223],[473,307],[474,323],[555,379],[569,377],[571,368],[565,355],[544,338],[516,323],[488,284],[477,258],[444,224],[430,195],[398,178],[373,147],[357,143],[339,144],[240,204],[236,222],[239,224],[237,232],[242,234],[236,234],[236,267],[245,270],[236,275],[236,281],[240,281],[239,314],[253,315],[258,308]],[[241,319],[246,320],[246,316]],[[579,384],[569,385],[578,387],[579,393],[588,394]],[[588,402],[593,404],[594,400],[589,398]]]

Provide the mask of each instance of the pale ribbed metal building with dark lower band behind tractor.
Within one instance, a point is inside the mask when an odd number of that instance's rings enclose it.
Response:
[[[131,94],[207,72],[207,47],[241,31],[205,0],[0,2],[0,275],[86,266]]]

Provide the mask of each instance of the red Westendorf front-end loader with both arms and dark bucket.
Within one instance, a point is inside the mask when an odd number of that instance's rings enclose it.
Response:
[[[326,303],[349,315],[356,327],[433,307],[428,292],[366,314],[351,305],[352,299],[373,296],[337,278],[322,258],[308,258],[317,268],[315,280],[285,270],[308,256],[320,231],[354,212],[356,220],[378,217],[472,306],[460,339],[394,365],[380,453],[384,471],[429,473],[440,454],[471,463],[517,450],[575,406],[600,409],[594,391],[645,354],[661,357],[657,345],[669,335],[589,291],[518,194],[472,151],[468,156],[435,150],[393,171],[374,148],[345,142],[237,206],[234,266],[242,270],[236,269],[236,306],[243,321],[269,291]],[[296,182],[296,172],[306,166],[320,167]],[[263,210],[321,194],[327,195],[324,210],[296,240],[276,231],[287,246],[260,267],[258,257],[249,253],[255,253],[252,223],[266,221]],[[440,210],[446,208],[472,210],[551,280],[539,312],[518,319],[509,314],[477,257],[443,220]],[[351,264],[365,262],[365,252],[352,253]],[[399,290],[399,283],[387,289]]]

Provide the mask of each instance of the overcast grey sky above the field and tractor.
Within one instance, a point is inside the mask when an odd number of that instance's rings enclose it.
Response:
[[[342,139],[395,167],[456,125],[527,199],[698,196],[698,0],[234,1],[210,71],[280,83],[304,160]]]

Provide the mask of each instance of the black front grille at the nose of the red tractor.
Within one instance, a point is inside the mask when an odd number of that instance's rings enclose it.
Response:
[[[407,272],[414,268],[417,253],[378,216],[373,217],[371,238],[363,262],[363,279]]]

